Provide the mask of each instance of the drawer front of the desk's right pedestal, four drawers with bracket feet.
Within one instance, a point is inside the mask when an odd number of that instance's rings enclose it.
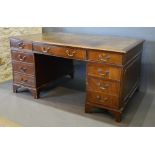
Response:
[[[90,112],[91,107],[101,107],[116,115],[116,109],[120,109],[122,54],[88,51],[88,60],[85,111]],[[119,121],[120,118],[116,118]]]

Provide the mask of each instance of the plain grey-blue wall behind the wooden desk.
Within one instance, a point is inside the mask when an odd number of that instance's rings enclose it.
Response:
[[[154,27],[45,27],[43,32],[118,35],[144,39],[141,91],[155,93],[155,28]]]

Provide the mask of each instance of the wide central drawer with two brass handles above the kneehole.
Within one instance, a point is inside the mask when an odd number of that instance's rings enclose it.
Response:
[[[54,46],[54,45],[34,43],[33,50],[58,56],[58,57],[77,59],[77,60],[86,60],[86,51],[78,48],[60,47],[60,46]]]

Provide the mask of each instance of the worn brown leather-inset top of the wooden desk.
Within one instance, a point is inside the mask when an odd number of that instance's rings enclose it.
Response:
[[[60,32],[16,36],[10,37],[10,39],[19,39],[24,41],[27,40],[31,41],[32,43],[42,42],[56,46],[68,46],[118,53],[127,53],[135,46],[144,42],[144,40],[128,37],[73,34]]]

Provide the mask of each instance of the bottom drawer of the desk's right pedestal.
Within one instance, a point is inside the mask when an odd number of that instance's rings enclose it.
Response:
[[[87,92],[87,100],[90,103],[103,105],[109,108],[119,108],[119,98],[98,92]]]

